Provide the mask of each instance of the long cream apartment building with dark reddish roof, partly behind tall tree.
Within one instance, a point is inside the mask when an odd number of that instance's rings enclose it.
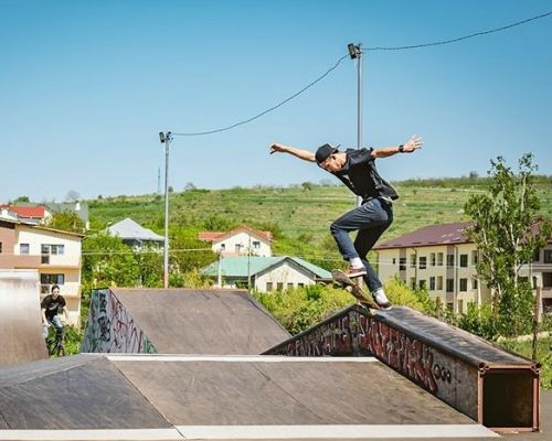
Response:
[[[489,301],[490,290],[477,273],[477,247],[465,235],[469,225],[432,225],[379,244],[373,250],[380,279],[385,282],[399,276],[413,288],[426,288],[432,298],[459,313],[467,312],[469,302]],[[537,257],[520,275],[543,287],[543,308],[552,308],[552,244]]]

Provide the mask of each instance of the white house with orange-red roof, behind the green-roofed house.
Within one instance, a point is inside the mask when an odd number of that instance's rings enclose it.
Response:
[[[222,256],[261,256],[269,257],[273,235],[241,225],[230,232],[201,232],[200,240],[211,241],[213,252]]]

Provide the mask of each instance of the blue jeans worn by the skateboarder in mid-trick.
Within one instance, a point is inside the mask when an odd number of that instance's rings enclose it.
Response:
[[[368,251],[372,249],[380,236],[393,222],[393,205],[382,197],[364,201],[361,206],[347,212],[336,219],[330,232],[338,244],[339,252],[344,260],[360,257],[367,268],[364,281],[371,292],[382,287],[380,278],[367,260]],[[349,233],[359,232],[354,244]]]

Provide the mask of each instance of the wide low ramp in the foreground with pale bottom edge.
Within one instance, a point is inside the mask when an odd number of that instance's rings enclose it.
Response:
[[[81,354],[0,378],[0,439],[497,437],[373,357]]]

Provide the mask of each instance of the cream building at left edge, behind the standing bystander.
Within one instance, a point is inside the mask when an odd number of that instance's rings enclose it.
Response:
[[[41,299],[59,284],[70,324],[81,319],[81,240],[83,235],[18,220],[0,219],[0,268],[36,270]]]

